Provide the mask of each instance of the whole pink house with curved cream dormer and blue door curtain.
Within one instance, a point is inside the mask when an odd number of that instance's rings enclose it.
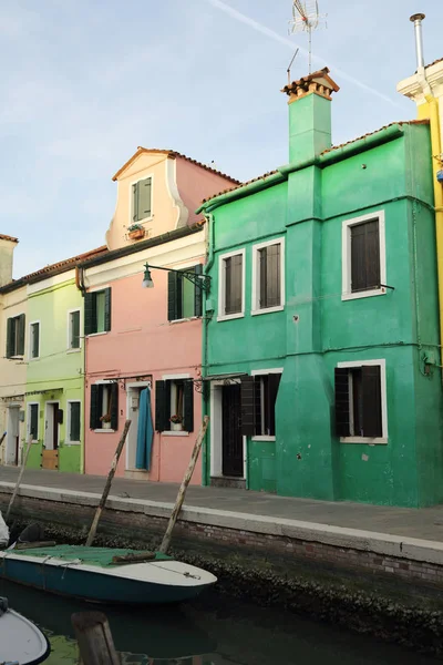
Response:
[[[131,419],[117,474],[177,482],[202,423],[206,226],[194,211],[236,181],[178,153],[143,147],[113,180],[117,202],[109,252],[78,270],[84,294],[85,473],[107,473]],[[197,466],[193,482],[200,479]]]

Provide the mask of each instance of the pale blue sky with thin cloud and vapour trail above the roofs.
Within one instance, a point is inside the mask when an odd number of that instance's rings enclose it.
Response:
[[[241,181],[287,163],[280,89],[308,73],[291,0],[0,0],[0,233],[19,238],[14,278],[104,244],[113,174],[145,147],[172,149]],[[332,141],[415,106],[395,90],[443,58],[439,0],[319,0],[313,68],[329,66]]]

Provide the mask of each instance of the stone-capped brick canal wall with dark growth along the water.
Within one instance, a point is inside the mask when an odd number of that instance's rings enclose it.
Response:
[[[4,510],[14,488],[0,482]],[[99,493],[23,484],[18,524],[84,542]],[[172,503],[110,495],[96,544],[158,546]],[[186,505],[172,553],[214,572],[220,593],[443,655],[443,543]]]

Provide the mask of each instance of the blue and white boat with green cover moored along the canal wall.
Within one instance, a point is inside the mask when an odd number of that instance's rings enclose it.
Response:
[[[97,603],[181,603],[217,582],[199,567],[158,552],[83,545],[0,551],[0,576],[47,592]]]

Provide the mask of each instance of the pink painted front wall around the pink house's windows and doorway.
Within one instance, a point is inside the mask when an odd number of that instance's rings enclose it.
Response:
[[[155,381],[163,375],[189,374],[197,378],[202,362],[202,320],[167,320],[167,273],[155,273],[155,288],[144,289],[141,274],[115,280],[112,287],[111,331],[87,337],[85,393],[85,473],[109,472],[126,419],[126,392],[119,395],[119,431],[90,429],[91,385],[113,376],[152,375],[152,410],[155,427]],[[135,381],[135,379],[131,379]],[[189,462],[202,422],[202,396],[194,391],[194,432],[174,437],[155,432],[150,473],[153,481],[179,482]],[[117,475],[125,474],[125,450]],[[192,482],[202,482],[197,463]]]

